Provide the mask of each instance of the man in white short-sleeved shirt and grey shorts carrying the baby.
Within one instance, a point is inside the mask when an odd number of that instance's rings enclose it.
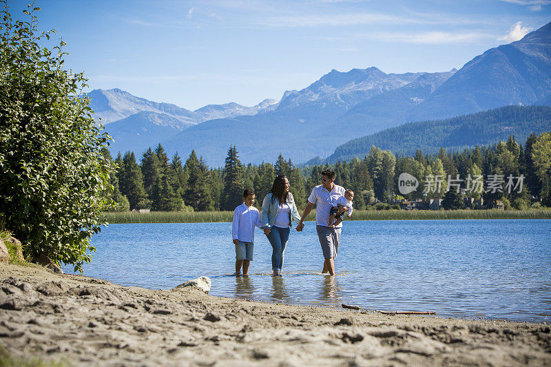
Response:
[[[342,223],[338,224],[334,229],[331,228],[329,216],[333,202],[336,202],[340,196],[344,195],[344,187],[335,185],[333,183],[334,180],[335,171],[333,169],[328,168],[322,171],[322,185],[313,188],[308,198],[308,204],[306,204],[300,222],[297,224],[297,231],[302,231],[304,219],[315,205],[315,229],[318,232],[318,238],[320,239],[325,259],[322,273],[329,271],[330,275],[335,275],[335,258],[339,251]]]

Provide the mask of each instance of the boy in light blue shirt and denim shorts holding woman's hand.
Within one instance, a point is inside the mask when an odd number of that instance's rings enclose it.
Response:
[[[254,227],[262,228],[260,213],[258,209],[253,207],[254,200],[254,191],[245,189],[243,191],[243,204],[233,211],[231,236],[233,244],[236,245],[235,275],[241,275],[241,266],[243,267],[243,275],[249,274],[249,264],[253,261]],[[266,230],[267,227],[264,227],[264,232]]]

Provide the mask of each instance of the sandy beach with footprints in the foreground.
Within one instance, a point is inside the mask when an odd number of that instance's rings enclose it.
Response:
[[[76,366],[551,366],[550,327],[250,302],[0,265],[0,346]]]

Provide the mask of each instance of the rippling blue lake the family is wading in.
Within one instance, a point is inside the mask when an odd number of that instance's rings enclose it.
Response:
[[[269,275],[259,229],[249,277],[231,275],[231,223],[110,224],[92,244],[84,275],[125,286],[171,289],[206,275],[222,297],[551,322],[551,220],[345,221],[335,277],[320,274],[314,222],[291,230],[282,277]]]

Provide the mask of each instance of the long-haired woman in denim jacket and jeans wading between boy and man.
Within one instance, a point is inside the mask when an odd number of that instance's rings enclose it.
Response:
[[[291,231],[291,220],[300,221],[293,194],[289,192],[287,177],[279,175],[273,180],[273,186],[262,202],[260,220],[264,226],[270,226],[267,237],[273,249],[271,254],[273,275],[281,275],[285,247]]]

